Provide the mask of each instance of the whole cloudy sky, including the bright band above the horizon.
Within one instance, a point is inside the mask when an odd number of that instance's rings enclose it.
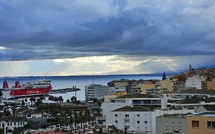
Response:
[[[214,65],[215,0],[0,0],[0,77]]]

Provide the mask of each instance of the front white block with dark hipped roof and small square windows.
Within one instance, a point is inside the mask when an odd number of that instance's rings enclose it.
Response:
[[[111,113],[111,125],[122,132],[145,134],[152,133],[151,110],[143,106],[125,106]],[[113,122],[112,122],[113,121]]]

